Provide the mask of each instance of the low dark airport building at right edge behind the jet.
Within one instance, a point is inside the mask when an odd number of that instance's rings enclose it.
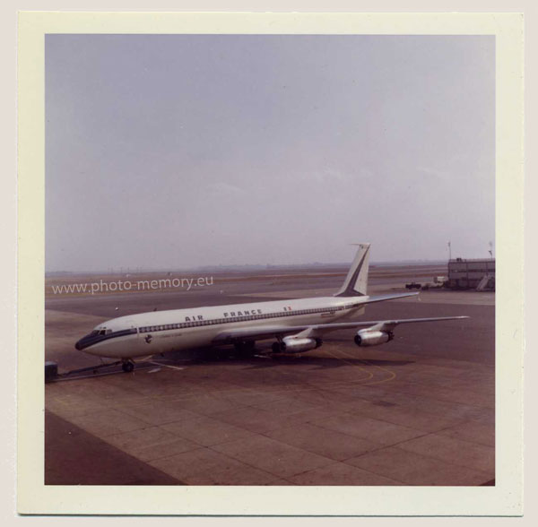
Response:
[[[495,289],[495,259],[456,258],[448,261],[450,289]]]

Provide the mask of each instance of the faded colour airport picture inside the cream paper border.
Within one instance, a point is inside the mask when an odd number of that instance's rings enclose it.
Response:
[[[495,49],[46,35],[45,485],[495,486]]]

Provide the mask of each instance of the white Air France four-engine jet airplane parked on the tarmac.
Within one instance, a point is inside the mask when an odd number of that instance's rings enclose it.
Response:
[[[118,359],[125,372],[134,359],[168,351],[193,350],[233,344],[242,354],[254,354],[256,341],[274,339],[273,354],[295,354],[319,348],[326,333],[357,329],[358,346],[392,341],[398,324],[458,320],[468,316],[442,316],[357,322],[374,302],[413,297],[419,293],[369,296],[367,282],[370,244],[356,244],[357,254],[342,287],[332,297],[299,298],[217,307],[152,311],[113,318],[95,326],[76,342],[76,350]],[[345,322],[343,322],[345,321]]]

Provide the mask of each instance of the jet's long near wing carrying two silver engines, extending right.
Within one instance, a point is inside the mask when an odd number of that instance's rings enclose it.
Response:
[[[368,322],[342,322],[334,324],[309,324],[309,325],[272,325],[247,327],[244,329],[230,329],[219,333],[214,339],[214,344],[233,343],[235,341],[256,341],[263,339],[285,337],[300,333],[301,337],[319,337],[325,333],[343,329],[370,328],[377,331],[392,331],[398,324],[412,324],[420,322],[439,322],[443,320],[460,320],[468,316],[436,316],[432,318],[403,318],[399,320],[370,320]]]

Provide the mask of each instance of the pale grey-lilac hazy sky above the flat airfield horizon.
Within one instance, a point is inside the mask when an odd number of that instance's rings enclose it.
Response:
[[[495,41],[48,35],[46,267],[488,255]]]

